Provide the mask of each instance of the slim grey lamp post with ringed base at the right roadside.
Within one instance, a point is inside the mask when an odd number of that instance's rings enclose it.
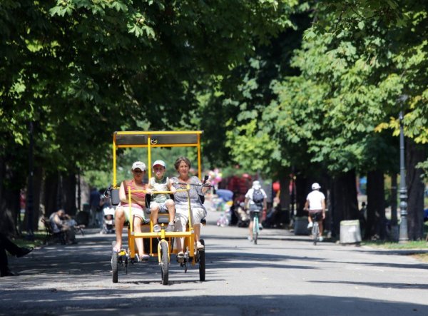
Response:
[[[407,188],[406,170],[404,168],[404,130],[403,112],[399,112],[399,210],[401,223],[399,224],[399,242],[406,243],[409,240],[407,234]]]

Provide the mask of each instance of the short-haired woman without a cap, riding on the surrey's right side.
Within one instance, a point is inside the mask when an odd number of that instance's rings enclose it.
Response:
[[[195,247],[197,249],[203,249],[202,243],[200,243],[200,220],[205,218],[206,210],[200,200],[200,195],[204,195],[208,187],[200,185],[198,177],[190,176],[190,160],[186,157],[178,157],[174,163],[175,170],[178,171],[178,177],[171,178],[173,185],[177,189],[185,189],[187,184],[190,184],[190,208],[192,216],[192,225],[195,231]],[[210,185],[210,180],[205,182],[206,185]],[[177,231],[184,232],[186,225],[188,224],[188,195],[186,192],[177,192],[174,195],[175,202],[175,227]],[[177,240],[178,254],[177,257],[184,258],[183,249],[183,238]]]

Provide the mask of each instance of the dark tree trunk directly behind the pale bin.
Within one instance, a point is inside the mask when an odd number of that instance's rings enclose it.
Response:
[[[340,221],[358,219],[358,201],[355,170],[340,173],[333,178],[332,235],[340,232]]]

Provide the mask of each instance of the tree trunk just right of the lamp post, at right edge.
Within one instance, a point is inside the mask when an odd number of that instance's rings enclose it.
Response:
[[[407,186],[407,231],[409,240],[421,240],[424,237],[424,189],[422,169],[417,163],[427,159],[427,147],[417,145],[412,139],[406,139],[406,186]]]

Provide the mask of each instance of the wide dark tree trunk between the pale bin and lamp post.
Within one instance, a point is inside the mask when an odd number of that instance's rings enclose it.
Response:
[[[384,240],[386,235],[384,205],[384,174],[381,170],[367,173],[367,230],[365,239],[374,236]]]

